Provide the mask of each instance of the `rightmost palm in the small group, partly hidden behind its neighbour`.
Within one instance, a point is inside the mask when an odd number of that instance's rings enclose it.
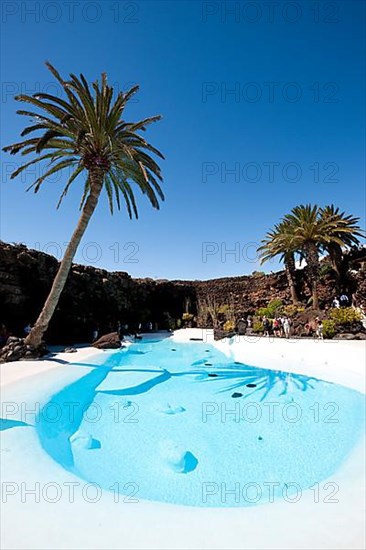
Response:
[[[358,225],[360,218],[355,218],[351,215],[347,216],[345,212],[340,212],[339,208],[333,204],[320,208],[319,215],[323,220],[335,222],[331,234],[332,238],[328,243],[324,243],[324,250],[329,254],[332,267],[337,274],[338,283],[341,283],[344,275],[344,255],[342,249],[358,246],[360,244],[358,237],[364,237],[365,232]]]

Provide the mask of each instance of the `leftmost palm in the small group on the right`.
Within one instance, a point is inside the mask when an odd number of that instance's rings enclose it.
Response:
[[[290,288],[293,304],[299,303],[296,290],[296,268],[295,268],[295,249],[293,247],[293,235],[288,224],[281,222],[274,226],[274,229],[268,231],[262,240],[262,245],[258,248],[261,256],[261,264],[280,256],[285,266],[287,282]]]

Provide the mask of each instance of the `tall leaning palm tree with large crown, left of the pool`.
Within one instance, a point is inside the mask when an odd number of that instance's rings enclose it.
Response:
[[[33,157],[15,170],[11,178],[15,178],[28,166],[46,161],[48,164],[45,173],[30,187],[37,193],[49,176],[65,168],[71,169],[72,173],[57,207],[79,175],[85,174],[85,181],[78,224],[44,307],[25,340],[26,344],[34,348],[41,346],[43,335],[65,286],[72,260],[102,190],[105,189],[107,193],[112,213],[114,201],[120,209],[123,197],[129,216],[136,218],[137,208],[131,184],[136,184],[147,195],[154,208],[159,208],[159,199],[164,200],[158,183],[158,180],[162,181],[160,168],[150,153],[164,157],[139,133],[161,117],[154,116],[139,122],[126,122],[122,118],[126,104],[137,92],[138,86],[126,93],[120,92],[115,97],[113,88],[107,84],[105,74],[102,74],[100,83],[97,80],[90,87],[82,74],[80,77],[70,74],[70,79],[65,81],[50,63],[46,65],[66,97],[61,99],[50,94],[37,93],[15,98],[37,109],[17,111],[20,115],[31,117],[33,121],[31,126],[23,130],[21,136],[33,132],[38,135],[4,148],[4,151],[9,151],[12,155],[21,152],[22,155],[32,154]]]

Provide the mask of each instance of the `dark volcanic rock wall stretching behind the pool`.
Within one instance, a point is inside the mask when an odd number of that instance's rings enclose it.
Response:
[[[13,334],[22,336],[23,328],[35,322],[57,267],[52,256],[0,242],[0,323],[5,323]],[[355,271],[350,284],[358,302],[366,303],[364,272]],[[310,297],[306,270],[301,272],[299,292],[306,302]],[[334,292],[332,275],[325,275],[319,287],[322,306],[331,303]],[[200,308],[207,299],[217,306],[229,304],[238,317],[253,314],[273,298],[284,304],[291,302],[282,271],[209,281],[155,281],[74,264],[47,340],[65,344],[90,341],[95,328],[100,334],[112,332],[118,322],[133,328],[139,322],[151,321],[159,328],[169,328],[185,311],[198,313],[200,326],[210,326],[210,316],[203,315]]]

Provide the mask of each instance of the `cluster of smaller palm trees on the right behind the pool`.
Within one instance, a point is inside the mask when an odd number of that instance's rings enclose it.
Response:
[[[320,255],[329,255],[340,281],[344,249],[359,245],[359,237],[365,236],[358,222],[359,218],[346,215],[333,204],[324,208],[311,204],[295,206],[262,240],[258,248],[261,263],[280,256],[292,301],[297,304],[295,259],[305,260],[311,283],[312,306],[318,309]]]

